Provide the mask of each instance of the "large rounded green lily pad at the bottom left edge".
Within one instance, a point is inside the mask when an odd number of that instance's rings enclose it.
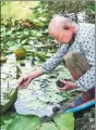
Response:
[[[17,116],[7,128],[7,130],[36,130],[40,126],[37,116]]]

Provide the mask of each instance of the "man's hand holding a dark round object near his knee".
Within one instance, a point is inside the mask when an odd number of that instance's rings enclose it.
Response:
[[[69,91],[77,88],[77,86],[72,81],[65,81],[65,80],[60,80],[60,81],[64,83],[64,87],[59,88],[59,90]]]

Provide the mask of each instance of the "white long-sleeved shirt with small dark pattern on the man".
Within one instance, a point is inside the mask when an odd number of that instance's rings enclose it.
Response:
[[[95,87],[95,25],[88,23],[81,23],[79,25],[79,32],[75,40],[70,48],[69,44],[62,44],[58,52],[43,64],[44,72],[50,73],[63,60],[63,56],[69,52],[80,52],[85,55],[91,65],[91,68],[79,80],[77,87],[87,91]]]

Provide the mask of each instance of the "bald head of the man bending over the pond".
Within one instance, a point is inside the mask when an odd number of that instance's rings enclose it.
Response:
[[[60,15],[55,16],[48,27],[49,35],[61,43],[69,43],[77,30],[79,26],[75,22]]]

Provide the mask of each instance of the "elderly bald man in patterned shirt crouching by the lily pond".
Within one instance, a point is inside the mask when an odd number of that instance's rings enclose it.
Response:
[[[83,94],[71,106],[85,103],[95,95],[95,25],[76,24],[70,18],[57,15],[49,23],[49,35],[56,38],[61,48],[58,52],[43,64],[38,70],[24,78],[20,89],[24,89],[36,77],[50,73],[63,60],[75,82],[61,80],[65,86],[63,91],[81,88]],[[63,77],[64,78],[64,77]]]

